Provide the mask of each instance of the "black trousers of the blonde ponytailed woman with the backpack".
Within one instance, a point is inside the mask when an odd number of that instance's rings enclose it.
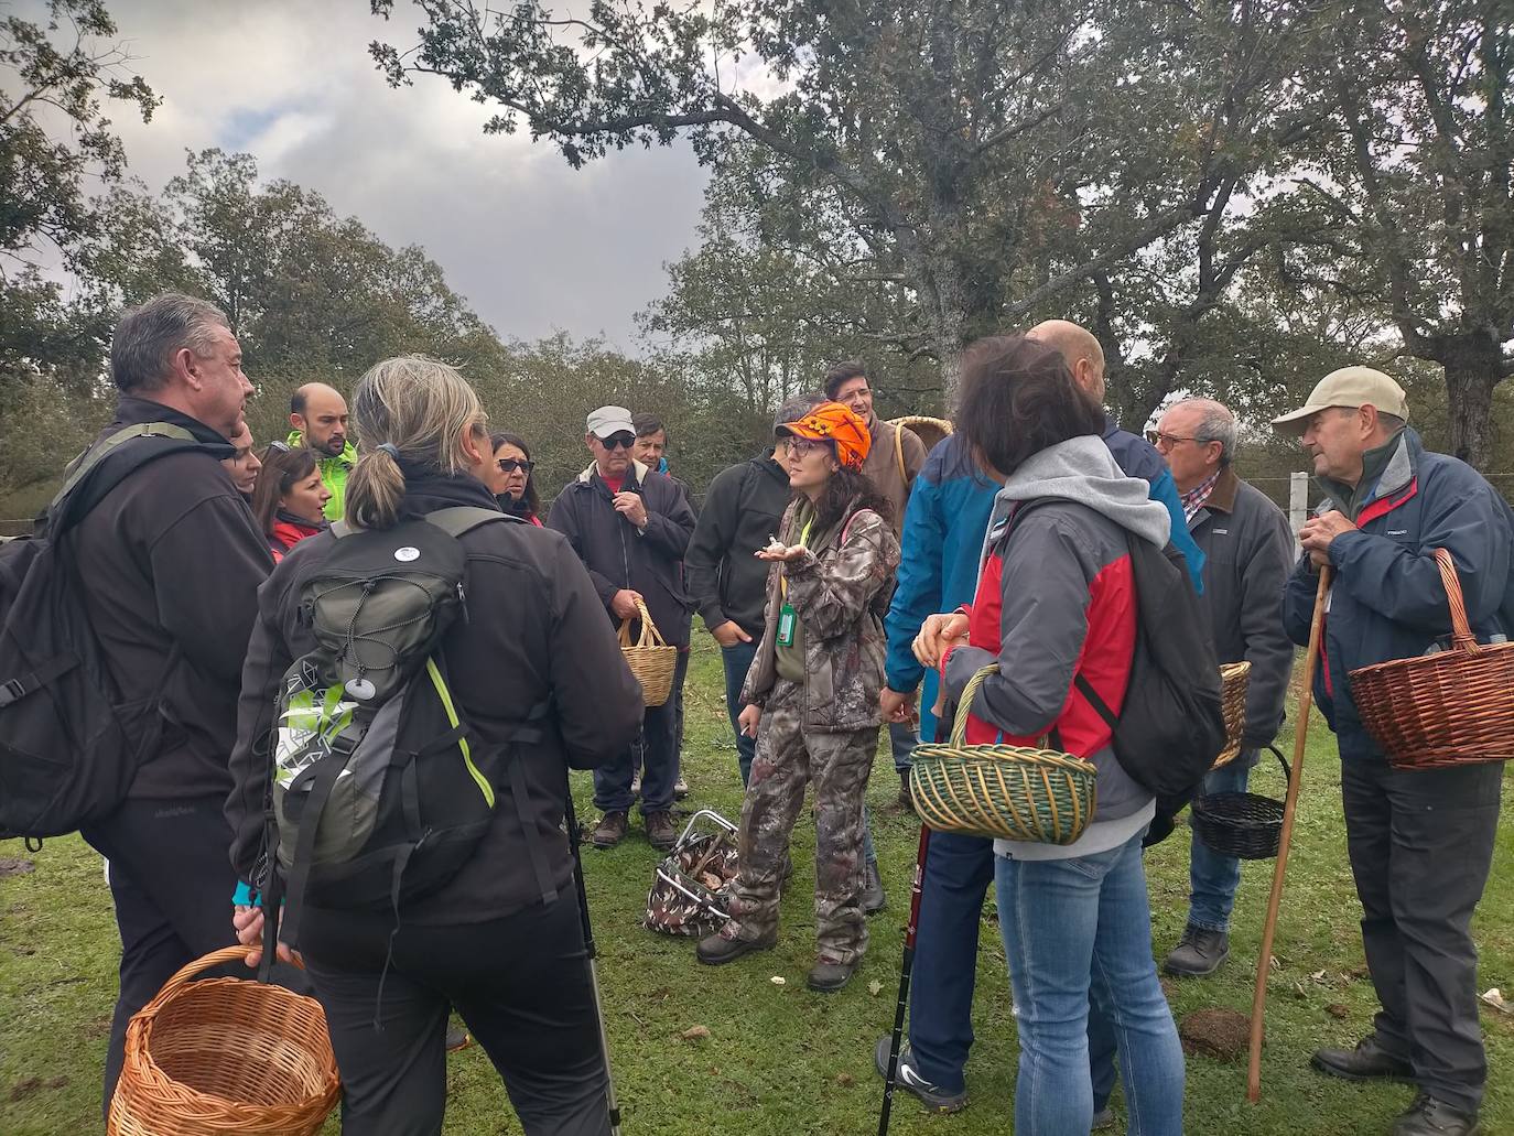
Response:
[[[403,924],[310,907],[300,932],[347,1091],[342,1136],[435,1136],[456,1007],[527,1136],[607,1136],[604,1057],[571,894],[491,922]],[[375,1019],[378,1025],[375,1027]]]

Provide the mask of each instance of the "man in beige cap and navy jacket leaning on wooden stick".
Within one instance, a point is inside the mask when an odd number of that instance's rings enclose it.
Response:
[[[1305,556],[1284,621],[1294,642],[1308,642],[1319,570],[1329,565],[1314,698],[1340,748],[1346,851],[1381,1003],[1355,1048],[1319,1050],[1313,1063],[1346,1080],[1416,1085],[1393,1136],[1472,1136],[1488,1066],[1470,924],[1493,859],[1503,765],[1393,768],[1363,727],[1350,673],[1444,645],[1435,548],[1456,562],[1478,638],[1508,635],[1514,513],[1472,467],[1426,451],[1407,420],[1402,388],[1366,367],[1332,371],[1299,410],[1273,420],[1301,438],[1328,494],[1299,533]]]

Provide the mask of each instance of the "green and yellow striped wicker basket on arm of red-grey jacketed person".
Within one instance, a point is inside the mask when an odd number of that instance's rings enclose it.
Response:
[[[936,832],[1072,844],[1093,818],[1099,779],[1093,762],[1052,750],[963,741],[972,700],[998,669],[984,666],[972,676],[945,745],[914,748],[914,810]]]

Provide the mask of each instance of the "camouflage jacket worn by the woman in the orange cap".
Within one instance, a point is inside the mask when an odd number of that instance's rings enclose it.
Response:
[[[783,515],[784,544],[793,544],[796,504]],[[768,571],[768,612],[757,657],[746,673],[742,704],[762,706],[778,679],[775,645],[783,598],[804,624],[802,729],[824,733],[881,724],[884,638],[878,600],[899,566],[899,541],[878,513],[848,509],[845,521],[822,533],[804,556]]]

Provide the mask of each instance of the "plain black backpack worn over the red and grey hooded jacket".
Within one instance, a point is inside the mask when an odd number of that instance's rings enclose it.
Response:
[[[1187,560],[1172,542],[1157,548],[1132,536],[1129,550],[1136,656],[1122,712],[1110,710],[1081,674],[1073,685],[1114,730],[1120,768],[1157,797],[1149,845],[1172,832],[1172,818],[1225,748],[1225,712],[1214,636]]]

